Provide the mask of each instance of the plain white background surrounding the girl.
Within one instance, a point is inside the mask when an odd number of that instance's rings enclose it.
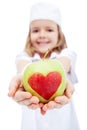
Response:
[[[77,53],[79,83],[73,95],[81,130],[87,130],[87,4],[86,0],[0,0],[0,130],[20,130],[21,107],[10,99],[8,87],[15,75],[15,56],[26,41],[33,3],[50,1],[59,6],[68,46]]]

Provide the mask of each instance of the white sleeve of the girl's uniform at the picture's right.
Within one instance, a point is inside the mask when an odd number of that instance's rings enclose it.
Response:
[[[69,50],[68,48],[64,49],[59,56],[67,56],[71,60],[71,71],[67,74],[67,78],[72,81],[72,83],[77,83],[77,76],[75,74],[75,65],[77,55],[74,51]]]

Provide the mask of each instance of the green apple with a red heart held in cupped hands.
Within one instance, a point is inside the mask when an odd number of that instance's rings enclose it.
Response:
[[[66,88],[64,68],[56,59],[43,59],[29,64],[24,70],[22,81],[25,90],[43,103],[62,95]]]

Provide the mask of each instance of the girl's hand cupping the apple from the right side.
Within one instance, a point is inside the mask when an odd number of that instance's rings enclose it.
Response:
[[[50,101],[47,104],[43,105],[43,107],[41,107],[41,113],[44,115],[44,114],[46,114],[47,110],[49,110],[49,109],[63,107],[65,104],[69,103],[73,92],[74,92],[73,85],[71,84],[70,81],[67,81],[66,90],[64,92],[64,95],[58,96],[54,99],[54,101]]]

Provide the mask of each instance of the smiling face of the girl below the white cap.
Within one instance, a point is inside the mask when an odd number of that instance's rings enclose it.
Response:
[[[57,24],[50,20],[35,20],[30,26],[30,39],[38,53],[44,54],[58,42]]]

